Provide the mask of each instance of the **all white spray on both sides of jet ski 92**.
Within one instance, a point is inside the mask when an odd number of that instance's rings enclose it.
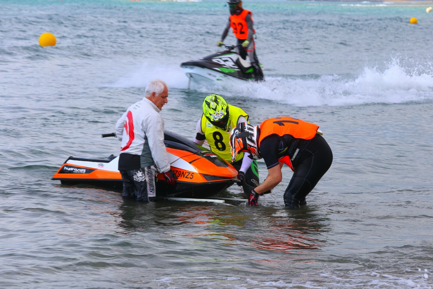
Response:
[[[266,71],[265,71],[266,72]],[[378,67],[364,67],[359,75],[266,75],[263,83],[221,83],[193,87],[230,96],[265,99],[293,106],[348,106],[374,103],[406,103],[433,100],[433,69],[405,68],[396,59]],[[178,66],[145,64],[138,71],[116,81],[114,87],[145,87],[161,78],[170,88],[187,88],[187,78]]]

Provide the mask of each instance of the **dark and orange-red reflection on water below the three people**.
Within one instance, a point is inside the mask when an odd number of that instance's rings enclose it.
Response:
[[[313,209],[250,208],[245,205],[201,205],[193,202],[143,203],[125,200],[119,207],[119,226],[127,233],[161,231],[170,239],[196,242],[218,240],[276,252],[317,250],[324,246],[320,236],[329,231],[326,218]]]

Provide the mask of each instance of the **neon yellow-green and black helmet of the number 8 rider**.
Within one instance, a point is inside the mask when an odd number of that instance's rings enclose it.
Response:
[[[229,105],[218,94],[209,94],[203,101],[203,114],[214,126],[226,130],[229,124]]]

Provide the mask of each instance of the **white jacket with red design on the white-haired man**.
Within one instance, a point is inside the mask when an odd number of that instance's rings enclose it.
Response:
[[[164,120],[161,110],[149,99],[132,104],[117,120],[116,134],[122,142],[120,157],[128,153],[139,156],[140,168],[156,165],[159,172],[168,172],[167,150],[164,145]]]

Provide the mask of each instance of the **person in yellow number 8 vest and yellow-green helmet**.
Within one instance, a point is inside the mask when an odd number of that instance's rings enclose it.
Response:
[[[248,114],[241,108],[227,104],[218,94],[209,94],[203,101],[203,115],[197,122],[194,142],[203,145],[204,140],[210,149],[227,162],[232,162],[230,152],[230,131],[238,123],[248,122]],[[232,165],[238,171],[238,179],[247,197],[253,188],[259,185],[257,162],[249,157],[249,153],[239,153]]]

